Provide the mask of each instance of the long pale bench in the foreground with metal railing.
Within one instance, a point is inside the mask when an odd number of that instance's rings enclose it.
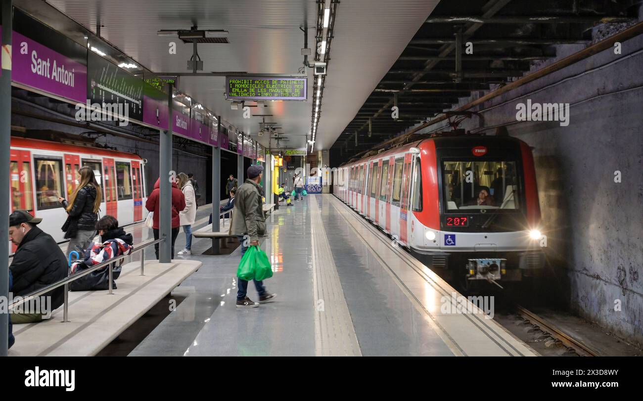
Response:
[[[201,267],[196,260],[172,263],[140,262],[123,265],[118,289],[69,292],[69,322],[62,323],[62,306],[51,319],[14,325],[10,356],[93,356],[170,294]]]

